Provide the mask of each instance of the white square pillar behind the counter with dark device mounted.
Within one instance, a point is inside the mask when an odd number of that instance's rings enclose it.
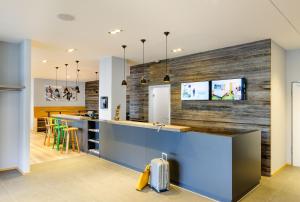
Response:
[[[128,74],[127,62],[125,65]],[[99,106],[100,119],[112,120],[118,105],[121,105],[120,119],[126,119],[126,86],[121,85],[124,79],[123,68],[122,58],[108,56],[100,60],[99,100],[101,96],[108,97],[108,109],[101,109]]]

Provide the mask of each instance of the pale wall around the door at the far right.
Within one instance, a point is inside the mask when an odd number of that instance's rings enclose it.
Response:
[[[300,49],[299,50],[291,50],[287,51],[287,60],[286,60],[286,67],[287,67],[287,82],[286,82],[286,92],[287,92],[287,161],[291,163],[291,83],[293,81],[300,82]]]

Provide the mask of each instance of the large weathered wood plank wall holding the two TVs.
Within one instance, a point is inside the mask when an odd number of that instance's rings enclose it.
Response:
[[[148,121],[148,86],[164,84],[164,61],[130,68],[127,94],[129,119]],[[262,131],[262,175],[271,175],[270,82],[271,40],[173,58],[171,77],[171,123],[196,130],[231,132]],[[141,85],[145,75],[148,85]],[[181,101],[183,82],[246,78],[247,100]]]

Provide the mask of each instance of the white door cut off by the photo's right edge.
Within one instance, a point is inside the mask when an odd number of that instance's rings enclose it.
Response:
[[[300,166],[300,83],[292,84],[292,163]]]

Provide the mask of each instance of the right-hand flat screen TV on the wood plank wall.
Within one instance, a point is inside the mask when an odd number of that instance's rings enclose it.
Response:
[[[245,100],[245,79],[211,81],[211,100]]]

